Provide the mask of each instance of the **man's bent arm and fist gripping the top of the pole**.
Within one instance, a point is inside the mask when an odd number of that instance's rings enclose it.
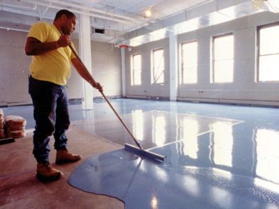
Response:
[[[25,54],[36,56],[58,49],[59,47],[67,47],[68,45],[70,45],[70,37],[64,35],[60,36],[59,40],[54,42],[40,42],[36,38],[28,37],[24,50]]]

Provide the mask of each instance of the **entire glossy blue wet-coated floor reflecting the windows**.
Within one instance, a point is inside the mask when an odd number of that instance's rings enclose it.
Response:
[[[116,196],[126,208],[279,208],[278,108],[133,99],[112,105],[143,148],[167,159],[156,164],[116,150],[84,162],[70,184]],[[69,109],[72,125],[133,144],[104,101],[91,111],[80,104]],[[3,110],[33,128],[33,107]]]

